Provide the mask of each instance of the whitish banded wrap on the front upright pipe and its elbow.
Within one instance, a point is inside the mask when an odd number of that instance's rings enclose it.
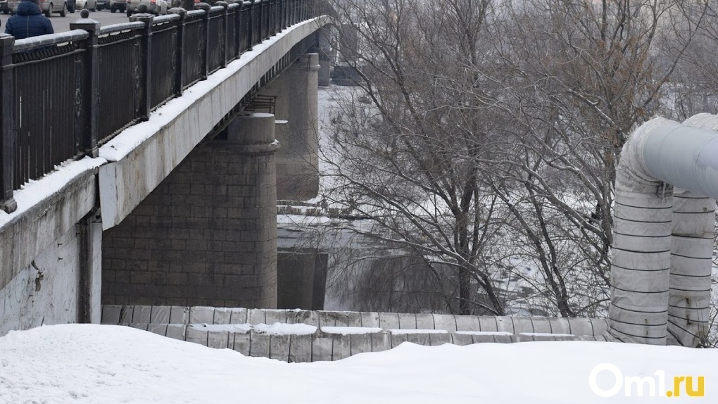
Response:
[[[666,344],[673,188],[643,161],[643,145],[664,121],[630,136],[616,172],[609,333],[623,342]]]

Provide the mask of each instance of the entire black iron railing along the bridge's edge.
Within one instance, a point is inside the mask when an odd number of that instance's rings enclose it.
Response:
[[[108,27],[80,19],[61,34],[0,35],[0,207],[14,211],[14,189],[68,159],[97,156],[123,128],[309,19],[312,2],[217,1]]]

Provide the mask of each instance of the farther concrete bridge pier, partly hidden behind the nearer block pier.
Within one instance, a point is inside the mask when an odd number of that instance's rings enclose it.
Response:
[[[317,111],[319,55],[309,53],[260,91],[276,97],[279,121],[276,138],[277,199],[306,200],[319,193],[319,113]]]

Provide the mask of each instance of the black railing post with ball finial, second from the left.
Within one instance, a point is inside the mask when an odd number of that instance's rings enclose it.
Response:
[[[98,39],[97,33],[100,29],[100,23],[94,19],[89,19],[90,11],[87,9],[80,11],[81,19],[70,22],[70,29],[84,29],[88,32],[88,39],[85,41],[85,51],[78,55],[82,65],[84,65],[80,91],[80,102],[77,104],[80,108],[80,125],[75,131],[79,131],[76,138],[79,139],[80,151],[90,157],[98,156],[97,133],[98,133],[98,116],[99,103],[98,97],[100,92],[100,63],[98,60]]]

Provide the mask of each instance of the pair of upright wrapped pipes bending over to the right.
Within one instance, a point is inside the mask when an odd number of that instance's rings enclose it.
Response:
[[[718,133],[704,122],[655,118],[623,147],[609,313],[621,341],[663,345],[670,333],[695,347],[707,334]]]

